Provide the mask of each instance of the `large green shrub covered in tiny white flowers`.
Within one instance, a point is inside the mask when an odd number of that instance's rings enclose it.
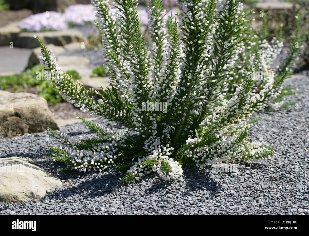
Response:
[[[250,73],[268,70],[282,43],[259,36],[250,41],[252,11],[245,14],[239,0],[183,0],[179,23],[175,16],[166,21],[162,0],[151,0],[146,44],[135,0],[114,4],[117,10],[108,0],[93,1],[110,77],[103,92],[74,83],[37,38],[41,64],[54,73],[52,85],[59,93],[85,113],[122,124],[109,129],[80,117],[98,135],[85,140],[51,130],[62,143],[51,147],[54,159],[80,172],[119,166],[125,181],[151,172],[171,180],[181,176],[182,165],[257,162],[274,153],[265,143],[249,142],[247,135],[257,121],[252,114],[280,94],[294,48],[257,93]],[[95,101],[94,93],[102,99]]]

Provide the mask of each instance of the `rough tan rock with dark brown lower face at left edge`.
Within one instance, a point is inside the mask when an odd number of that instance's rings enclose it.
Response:
[[[0,138],[42,132],[47,127],[59,129],[44,98],[0,91]]]

